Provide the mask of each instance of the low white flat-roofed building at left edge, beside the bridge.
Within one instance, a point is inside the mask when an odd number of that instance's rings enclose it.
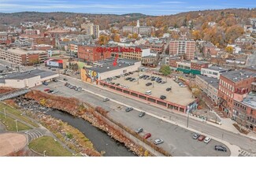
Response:
[[[39,86],[43,82],[49,82],[58,76],[59,74],[57,73],[39,69],[27,72],[18,72],[0,78],[0,87],[31,88]]]

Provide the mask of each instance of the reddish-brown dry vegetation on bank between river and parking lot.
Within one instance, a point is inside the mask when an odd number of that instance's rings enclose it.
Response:
[[[102,117],[102,115],[106,116],[106,110],[100,107],[97,108],[97,110],[100,112],[98,113],[94,107],[87,103],[81,103],[76,98],[56,97],[50,94],[45,94],[41,91],[31,91],[28,94],[25,94],[25,98],[34,99],[41,105],[54,109],[60,109],[73,116],[80,116],[84,120],[90,122],[93,126],[98,127],[102,131],[106,131],[107,134],[113,139],[124,143],[124,146],[128,147],[128,149],[132,150],[137,155],[152,156],[152,153],[150,153],[148,150],[145,150],[142,146],[139,146],[131,139],[128,139],[128,137],[123,135],[123,133],[116,127],[110,125],[106,118]]]

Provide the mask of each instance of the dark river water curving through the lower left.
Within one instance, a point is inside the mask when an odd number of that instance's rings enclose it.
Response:
[[[20,106],[32,110],[32,112],[42,108],[42,106],[38,104],[28,104],[28,101],[26,101],[26,103],[22,101],[23,100],[19,100],[21,104]],[[123,143],[112,139],[109,135],[106,134],[105,131],[99,130],[97,127],[92,126],[89,122],[83,120],[82,118],[72,116],[69,113],[64,113],[56,109],[41,109],[41,111],[43,111],[44,114],[53,116],[59,120],[67,122],[72,127],[79,129],[83,135],[90,139],[98,152],[105,152],[103,156],[135,157],[135,154],[133,154],[132,151],[129,151]]]

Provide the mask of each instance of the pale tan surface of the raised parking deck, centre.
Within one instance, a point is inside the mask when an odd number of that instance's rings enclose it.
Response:
[[[148,76],[156,76],[151,75],[146,72],[139,72],[139,75],[148,75]],[[192,98],[191,92],[187,89],[187,87],[179,87],[177,83],[173,81],[173,79],[167,78],[167,83],[161,84],[156,83],[155,81],[151,81],[151,79],[139,79],[139,75],[137,72],[133,73],[129,76],[124,76],[117,79],[112,79],[113,83],[120,83],[124,86],[128,86],[132,91],[139,91],[140,93],[145,93],[146,91],[152,91],[151,96],[155,98],[160,98],[161,95],[165,95],[167,101],[173,102],[180,105],[188,105],[193,102],[195,98]],[[132,77],[135,79],[139,79],[139,81],[131,82],[129,80],[125,80],[127,77]],[[161,77],[161,76],[159,76]],[[166,81],[165,77],[161,77],[164,81]],[[146,86],[146,83],[153,83],[150,86]],[[172,91],[166,91],[166,88],[172,87]]]

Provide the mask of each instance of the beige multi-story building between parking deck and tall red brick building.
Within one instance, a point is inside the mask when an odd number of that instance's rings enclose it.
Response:
[[[219,87],[219,80],[213,77],[197,75],[195,83],[198,87],[209,96],[215,104],[217,104],[217,93]]]

